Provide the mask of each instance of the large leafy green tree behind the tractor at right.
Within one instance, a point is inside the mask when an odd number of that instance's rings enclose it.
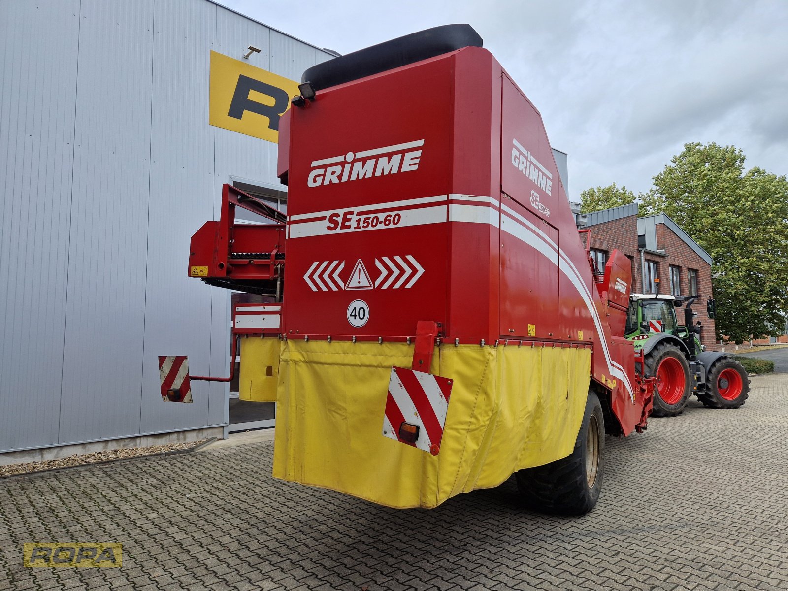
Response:
[[[733,146],[687,143],[643,197],[712,255],[717,337],[737,343],[788,312],[788,182],[744,161]]]

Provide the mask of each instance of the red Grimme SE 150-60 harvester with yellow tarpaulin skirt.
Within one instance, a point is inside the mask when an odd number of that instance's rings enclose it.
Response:
[[[241,398],[277,402],[273,475],[404,508],[516,473],[541,511],[591,510],[604,435],[645,429],[655,380],[624,337],[630,262],[595,280],[536,107],[465,24],[303,82],[287,219],[225,185],[189,261],[272,300],[235,307],[232,349]]]

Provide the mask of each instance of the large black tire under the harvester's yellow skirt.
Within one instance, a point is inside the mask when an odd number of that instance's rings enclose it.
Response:
[[[603,472],[604,415],[599,398],[589,392],[571,455],[545,466],[520,470],[516,478],[522,500],[534,511],[584,515],[597,504]]]

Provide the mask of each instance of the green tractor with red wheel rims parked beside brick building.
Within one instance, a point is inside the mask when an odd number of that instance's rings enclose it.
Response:
[[[632,294],[626,315],[626,338],[642,349],[645,375],[656,377],[652,416],[671,417],[686,407],[694,394],[707,407],[738,408],[747,400],[749,379],[742,364],[727,353],[704,351],[701,322],[692,305],[699,296]],[[676,308],[684,307],[684,324]],[[714,300],[707,303],[714,318]],[[639,366],[640,364],[637,364]]]

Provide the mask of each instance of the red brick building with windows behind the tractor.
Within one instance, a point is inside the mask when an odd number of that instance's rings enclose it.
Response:
[[[674,296],[712,296],[712,257],[665,214],[637,217],[637,203],[588,214],[591,255],[604,268],[608,256],[618,248],[632,265],[632,291]],[[704,301],[696,303],[703,329],[701,342],[709,351],[719,349],[714,321],[708,318]],[[682,314],[682,310],[678,310]],[[680,315],[679,322],[683,317]]]

